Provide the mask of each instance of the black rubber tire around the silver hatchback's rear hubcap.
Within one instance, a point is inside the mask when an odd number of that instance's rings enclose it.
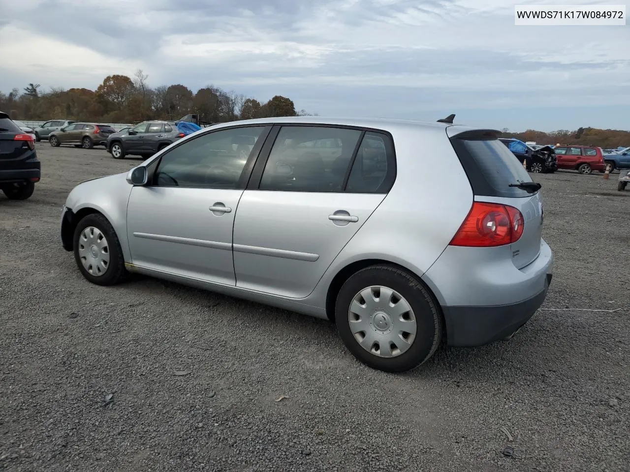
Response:
[[[372,354],[352,334],[348,318],[350,305],[355,295],[370,286],[384,286],[398,292],[413,310],[415,339],[408,350],[398,356]],[[353,356],[367,366],[385,372],[404,372],[419,366],[433,356],[442,340],[442,315],[431,293],[418,279],[392,266],[366,267],[348,278],[337,295],[335,322],[341,339]]]

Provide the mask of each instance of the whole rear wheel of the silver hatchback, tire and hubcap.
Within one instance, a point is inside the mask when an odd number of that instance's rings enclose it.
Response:
[[[404,372],[435,353],[442,316],[428,290],[392,266],[371,266],[351,276],[337,296],[335,322],[353,356],[386,372]]]

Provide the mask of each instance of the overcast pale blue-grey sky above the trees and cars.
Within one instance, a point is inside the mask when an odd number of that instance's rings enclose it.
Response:
[[[630,130],[630,22],[515,26],[515,3],[0,0],[0,90],[96,89],[143,69],[151,86],[280,94],[322,116]]]

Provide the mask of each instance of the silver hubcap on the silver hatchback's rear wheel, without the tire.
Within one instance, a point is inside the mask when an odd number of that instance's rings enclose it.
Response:
[[[379,357],[406,352],[416,337],[416,317],[398,292],[383,286],[364,288],[348,310],[350,330],[365,351]]]

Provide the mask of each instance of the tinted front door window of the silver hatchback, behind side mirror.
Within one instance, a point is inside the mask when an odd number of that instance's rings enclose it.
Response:
[[[264,126],[234,128],[186,141],[161,158],[154,184],[165,187],[236,188],[252,146],[246,152],[234,140],[256,143]]]

